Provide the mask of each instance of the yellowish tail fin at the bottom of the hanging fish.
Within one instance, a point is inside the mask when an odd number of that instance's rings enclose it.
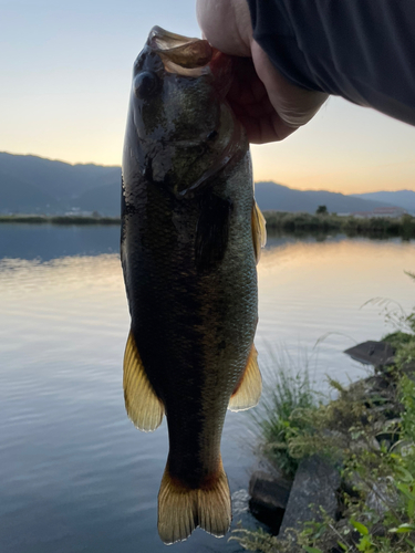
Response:
[[[215,478],[198,489],[173,479],[167,463],[158,493],[158,534],[164,543],[186,540],[197,526],[222,538],[231,519],[229,484],[221,459]]]

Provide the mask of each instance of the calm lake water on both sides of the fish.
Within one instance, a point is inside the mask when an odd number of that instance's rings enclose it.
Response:
[[[166,549],[156,530],[166,425],[142,434],[124,411],[129,319],[118,233],[116,227],[0,227],[2,553]],[[266,393],[271,358],[281,352],[294,367],[308,357],[319,389],[328,388],[326,374],[344,383],[363,376],[342,352],[392,330],[378,304],[362,307],[369,300],[390,298],[411,311],[415,283],[405,270],[415,271],[414,242],[270,237],[259,265],[256,340]],[[247,489],[256,463],[249,420],[229,413],[225,425],[234,497]],[[197,530],[172,550],[240,547]]]

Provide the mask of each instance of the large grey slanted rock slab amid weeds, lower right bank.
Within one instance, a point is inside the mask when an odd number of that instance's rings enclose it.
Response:
[[[339,471],[326,460],[314,455],[301,461],[291,488],[280,536],[288,529],[301,530],[304,522],[322,521],[320,508],[335,519],[336,491],[341,479]]]

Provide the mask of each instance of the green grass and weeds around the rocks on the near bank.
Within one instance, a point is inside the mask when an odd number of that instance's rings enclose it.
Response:
[[[392,319],[401,328],[384,340],[396,347],[394,365],[377,367],[347,388],[330,380],[338,392],[334,400],[317,401],[308,376],[303,382],[300,375],[281,376],[280,368],[274,410],[270,405],[258,420],[261,451],[277,467],[283,452],[286,471],[313,453],[331,459],[342,477],[341,512],[338,520],[323,512],[321,521],[286,536],[238,530],[232,539],[246,550],[415,551],[415,311]]]

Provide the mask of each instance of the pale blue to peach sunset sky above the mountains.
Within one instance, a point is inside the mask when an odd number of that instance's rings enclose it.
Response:
[[[149,30],[199,36],[196,0],[0,0],[0,152],[121,165],[133,62]],[[331,97],[255,180],[342,194],[415,190],[415,128]]]

